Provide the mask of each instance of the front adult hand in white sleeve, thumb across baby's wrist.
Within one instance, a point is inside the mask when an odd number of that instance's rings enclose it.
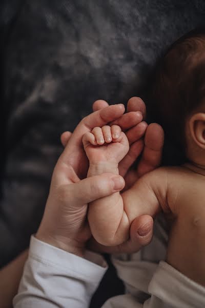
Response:
[[[113,174],[85,178],[87,157],[82,137],[95,126],[103,126],[124,113],[122,104],[108,106],[84,118],[74,130],[54,168],[45,214],[36,237],[66,251],[82,255],[90,238],[87,203],[113,194],[124,180]]]

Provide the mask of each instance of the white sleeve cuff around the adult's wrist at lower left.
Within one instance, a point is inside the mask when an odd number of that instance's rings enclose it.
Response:
[[[104,259],[86,252],[85,259],[31,237],[29,257],[14,308],[86,308],[107,270]]]

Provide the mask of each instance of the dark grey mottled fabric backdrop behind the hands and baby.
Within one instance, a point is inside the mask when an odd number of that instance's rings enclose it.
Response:
[[[38,226],[60,133],[96,99],[143,94],[156,59],[204,15],[204,0],[1,0],[0,266]]]

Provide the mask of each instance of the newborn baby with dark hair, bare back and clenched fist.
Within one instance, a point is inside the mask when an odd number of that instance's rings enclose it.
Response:
[[[202,285],[205,285],[204,51],[204,27],[179,38],[161,59],[150,91],[152,115],[186,163],[144,173],[122,194],[116,192],[91,203],[88,212],[94,238],[112,246],[128,239],[135,218],[144,214],[155,217],[162,210],[172,222],[167,262]],[[158,138],[149,140],[153,160],[157,140],[163,133],[157,134]],[[145,145],[147,141],[145,136]],[[129,145],[119,127],[98,127],[84,137],[84,147],[90,161],[88,176],[91,176],[117,173],[118,162]],[[144,161],[146,158],[144,151]],[[200,269],[197,264],[201,264]]]

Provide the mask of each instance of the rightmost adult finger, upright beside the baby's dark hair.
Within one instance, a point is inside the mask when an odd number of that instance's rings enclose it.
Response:
[[[139,177],[157,168],[161,163],[164,132],[159,124],[152,123],[145,134],[145,147],[137,166]]]

